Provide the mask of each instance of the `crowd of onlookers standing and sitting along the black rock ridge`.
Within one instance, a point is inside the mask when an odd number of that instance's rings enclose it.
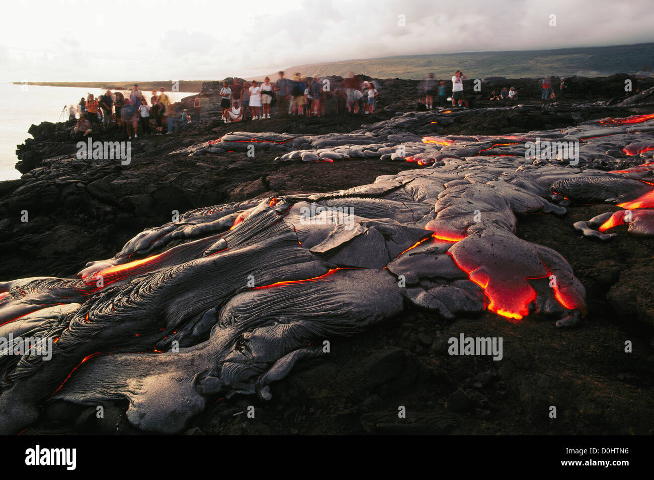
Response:
[[[342,82],[330,84],[330,79],[318,75],[302,78],[296,72],[292,79],[286,78],[283,71],[277,73],[277,81],[271,82],[266,76],[263,82],[239,81],[222,82],[220,89],[220,110],[222,121],[232,123],[245,120],[268,120],[271,118],[270,106],[277,104],[277,117],[322,117],[324,115],[362,114],[375,112],[375,103],[379,95],[379,84],[374,80],[362,80],[353,73]],[[433,73],[428,74],[418,84],[418,101],[422,109],[443,108],[451,101],[452,106],[470,106],[464,99],[463,81],[466,76],[456,71],[451,79],[451,89],[445,80],[436,80]],[[557,93],[552,88],[550,78],[541,82],[542,99],[555,99]],[[561,80],[559,96],[568,86]],[[502,91],[493,91],[490,100],[517,101],[518,92],[514,87],[504,87]],[[139,90],[137,84],[124,95],[122,91],[105,91],[97,99],[90,94],[80,99],[77,106],[69,107],[69,120],[78,115],[75,132],[83,135],[92,133],[94,127],[105,129],[116,122],[129,139],[141,135],[162,135],[163,125],[171,133],[175,125],[187,125],[200,120],[200,99],[195,97],[193,114],[184,109],[181,115],[175,114],[164,88],[153,90],[148,99]],[[152,122],[156,125],[152,127]]]

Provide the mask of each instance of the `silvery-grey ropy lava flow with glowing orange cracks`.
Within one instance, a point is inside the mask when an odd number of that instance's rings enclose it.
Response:
[[[216,396],[271,398],[271,382],[322,355],[323,340],[407,306],[447,319],[490,310],[513,322],[541,313],[576,325],[586,312],[583,285],[557,251],[518,238],[517,222],[565,214],[570,203],[607,203],[623,210],[574,227],[602,240],[623,224],[654,236],[654,115],[497,137],[402,141],[394,133],[458,114],[407,114],[351,134],[236,132],[175,152],[261,142],[279,148],[279,161],[366,157],[428,167],[331,193],[192,210],[88,263],[78,280],[0,283],[0,336],[54,338],[48,361],[0,357],[0,431],[34,423],[48,400],[127,399],[135,426],[179,432]],[[577,144],[579,167],[525,154],[530,142]],[[581,168],[615,151],[642,165]]]

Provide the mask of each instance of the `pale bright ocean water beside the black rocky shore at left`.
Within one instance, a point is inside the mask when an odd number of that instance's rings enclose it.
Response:
[[[86,99],[88,93],[95,97],[105,90],[96,88],[44,87],[36,85],[0,84],[0,180],[20,178],[20,172],[14,168],[16,145],[31,138],[27,133],[30,125],[39,125],[42,121],[56,122],[68,118],[61,115],[63,106],[75,105],[81,97]],[[149,92],[145,91],[149,99]],[[167,91],[171,101],[177,102],[194,93]]]

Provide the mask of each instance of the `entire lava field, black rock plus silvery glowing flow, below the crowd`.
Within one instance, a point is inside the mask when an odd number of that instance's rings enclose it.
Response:
[[[37,135],[0,191],[0,336],[56,342],[2,357],[0,428],[651,434],[651,112],[212,125],[129,168]],[[494,131],[514,117],[551,128]]]

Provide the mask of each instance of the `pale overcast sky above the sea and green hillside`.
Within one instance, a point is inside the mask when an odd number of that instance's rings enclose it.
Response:
[[[652,0],[16,0],[2,13],[2,82],[247,78],[355,58],[654,41]]]

